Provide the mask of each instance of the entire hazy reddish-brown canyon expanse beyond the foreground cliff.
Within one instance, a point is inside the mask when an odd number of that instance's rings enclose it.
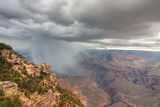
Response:
[[[82,95],[87,107],[160,107],[160,52],[89,50],[82,75],[58,74],[57,84]],[[74,68],[76,73],[78,68]]]

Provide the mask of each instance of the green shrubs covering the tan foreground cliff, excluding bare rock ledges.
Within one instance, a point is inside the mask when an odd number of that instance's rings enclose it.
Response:
[[[43,95],[49,90],[52,90],[53,93],[60,94],[60,101],[58,105],[56,104],[55,106],[75,107],[78,105],[79,107],[85,107],[81,103],[79,97],[74,95],[71,91],[62,89],[58,85],[56,85],[55,89],[53,89],[54,83],[44,85],[43,81],[50,77],[50,73],[41,71],[39,76],[34,77],[28,74],[26,66],[23,66],[23,64],[19,64],[18,66],[20,67],[18,70],[15,70],[15,64],[8,62],[2,55],[1,51],[4,49],[10,51],[8,57],[9,59],[12,59],[12,53],[16,54],[18,56],[17,58],[23,59],[21,55],[13,52],[10,46],[0,43],[0,82],[12,81],[18,84],[18,91],[24,93],[27,98],[30,98],[30,95],[32,95],[34,92],[37,92],[39,95]],[[24,62],[24,64],[27,64],[27,62]],[[0,89],[0,105],[2,107],[21,107],[23,102],[21,102],[19,97],[20,96],[18,94],[8,96],[3,89]]]

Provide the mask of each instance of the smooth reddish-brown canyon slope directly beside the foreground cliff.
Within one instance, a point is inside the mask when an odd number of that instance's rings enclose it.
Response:
[[[87,101],[87,107],[104,107],[111,104],[110,96],[89,77],[62,76],[61,74],[58,77],[58,84],[83,95]]]

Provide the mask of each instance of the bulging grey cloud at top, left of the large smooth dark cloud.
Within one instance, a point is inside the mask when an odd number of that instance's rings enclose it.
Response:
[[[64,26],[74,23],[75,20],[72,14],[65,9],[68,6],[67,1],[55,0],[52,2],[46,1],[46,3],[44,4],[41,0],[20,0],[20,4],[26,10],[46,18],[44,21],[53,21],[56,24]]]

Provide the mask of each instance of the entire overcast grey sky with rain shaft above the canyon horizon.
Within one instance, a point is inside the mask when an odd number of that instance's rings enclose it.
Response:
[[[90,48],[160,51],[159,5],[160,0],[0,0],[0,42],[45,56],[65,54],[63,62]]]

